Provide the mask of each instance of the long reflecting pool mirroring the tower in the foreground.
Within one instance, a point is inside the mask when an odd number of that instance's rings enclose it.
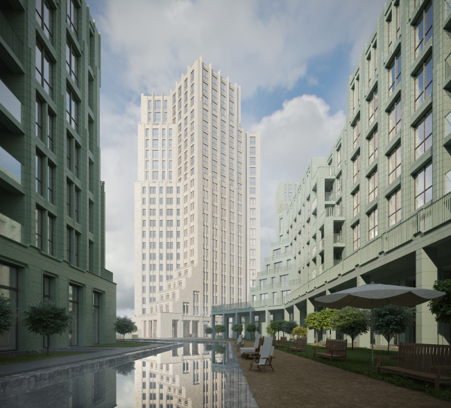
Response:
[[[230,343],[172,350],[42,389],[0,398],[0,407],[257,407]]]

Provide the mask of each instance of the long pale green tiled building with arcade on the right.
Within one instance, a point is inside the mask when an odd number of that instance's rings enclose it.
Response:
[[[350,76],[346,124],[329,155],[312,158],[291,201],[281,194],[295,182],[278,188],[277,241],[250,303],[213,315],[255,321],[265,333],[273,319],[303,324],[318,296],[370,282],[432,289],[451,278],[450,92],[450,2],[386,3]],[[357,341],[369,346],[370,335]],[[398,341],[450,344],[450,325],[424,303]]]

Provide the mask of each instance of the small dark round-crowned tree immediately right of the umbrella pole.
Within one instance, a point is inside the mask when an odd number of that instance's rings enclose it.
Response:
[[[415,323],[415,307],[386,305],[374,309],[374,330],[388,341],[386,352],[390,350],[393,334],[405,333],[407,326]]]

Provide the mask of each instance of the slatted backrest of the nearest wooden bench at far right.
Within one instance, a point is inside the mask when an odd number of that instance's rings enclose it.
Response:
[[[451,346],[400,342],[398,357],[398,367],[431,373],[432,366],[451,366]],[[451,370],[442,372],[451,375]]]

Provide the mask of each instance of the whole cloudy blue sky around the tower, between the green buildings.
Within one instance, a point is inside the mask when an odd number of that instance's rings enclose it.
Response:
[[[134,184],[141,94],[169,94],[202,56],[241,86],[241,126],[261,134],[261,254],[275,189],[330,152],[346,89],[383,0],[87,0],[101,33],[101,179],[106,267],[117,314],[134,308]]]

